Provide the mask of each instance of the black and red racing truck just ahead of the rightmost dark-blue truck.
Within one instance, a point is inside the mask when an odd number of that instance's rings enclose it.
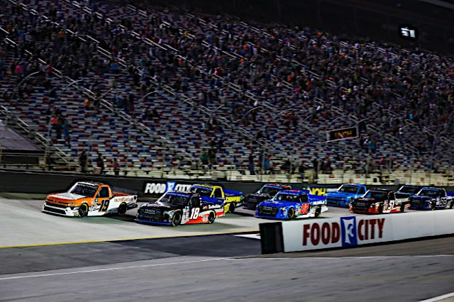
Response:
[[[397,202],[391,189],[369,189],[350,203],[350,211],[364,214],[404,212],[405,203]]]

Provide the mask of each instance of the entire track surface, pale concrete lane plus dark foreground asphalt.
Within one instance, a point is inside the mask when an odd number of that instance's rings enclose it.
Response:
[[[248,211],[163,228],[133,223],[133,213],[51,216],[41,204],[0,198],[0,245],[38,244],[0,249],[0,301],[421,301],[454,291],[454,237],[260,255],[259,240],[211,235],[258,228]],[[121,240],[142,236],[169,237]],[[92,238],[111,239],[46,244]]]

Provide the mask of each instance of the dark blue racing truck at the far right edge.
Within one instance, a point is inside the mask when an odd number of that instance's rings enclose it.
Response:
[[[443,188],[425,187],[409,200],[410,208],[414,210],[441,210],[454,206],[454,197],[448,196]]]

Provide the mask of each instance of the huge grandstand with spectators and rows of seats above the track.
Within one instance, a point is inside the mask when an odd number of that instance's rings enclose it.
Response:
[[[266,177],[282,181],[298,177],[282,171],[287,159],[311,170],[314,159],[329,159],[335,172],[306,173],[325,183],[365,177],[356,175],[366,165],[453,164],[447,57],[232,16],[1,3],[1,113],[37,133],[53,169],[79,169],[84,150],[93,166],[101,153],[110,173],[117,158],[123,172],[181,177],[200,172],[210,150],[211,169],[236,179],[257,179],[244,174],[253,154],[258,169],[270,157],[277,175]],[[326,142],[327,130],[350,126],[361,139]],[[452,181],[448,171],[438,183]],[[408,173],[388,172],[386,181]]]

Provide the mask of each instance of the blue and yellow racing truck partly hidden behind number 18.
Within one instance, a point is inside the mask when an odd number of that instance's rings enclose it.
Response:
[[[233,213],[243,200],[243,193],[240,191],[227,190],[211,184],[193,184],[189,188],[189,192],[198,193],[203,197],[216,198],[223,203],[225,213]]]

